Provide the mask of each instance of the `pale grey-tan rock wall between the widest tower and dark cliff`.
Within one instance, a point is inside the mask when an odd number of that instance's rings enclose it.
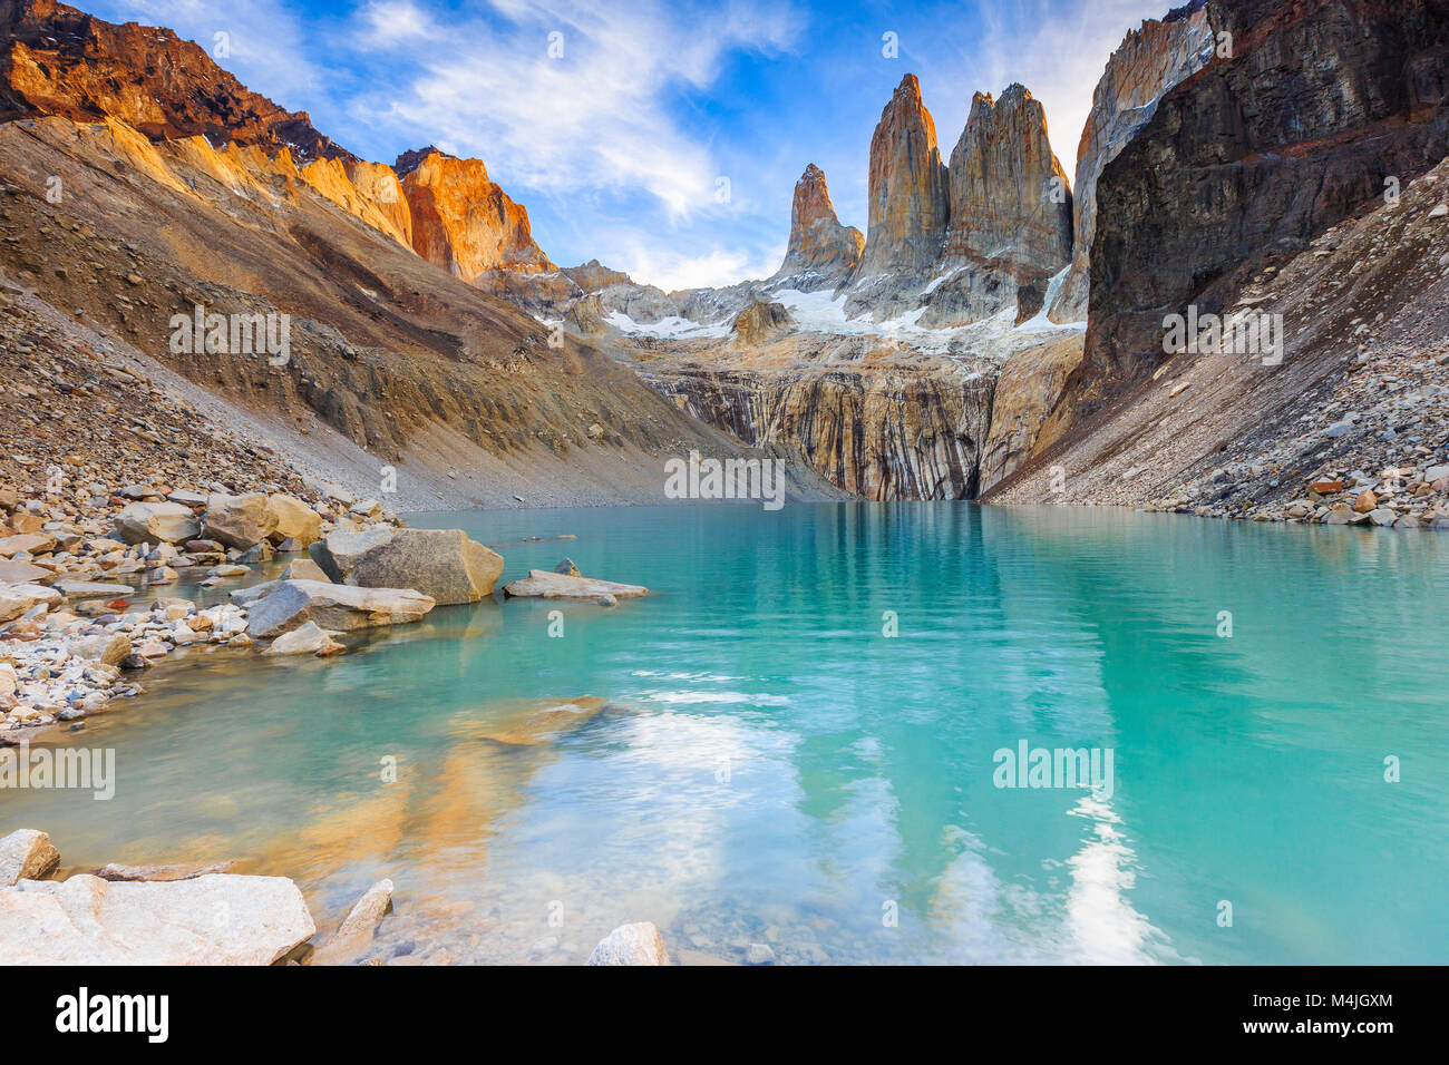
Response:
[[[1077,148],[1072,181],[1072,265],[1048,310],[1053,322],[1085,322],[1088,261],[1097,232],[1097,180],[1103,168],[1136,136],[1156,112],[1158,99],[1201,70],[1217,41],[1204,0],[1145,19],[1107,59],[1093,93],[1091,112]]]

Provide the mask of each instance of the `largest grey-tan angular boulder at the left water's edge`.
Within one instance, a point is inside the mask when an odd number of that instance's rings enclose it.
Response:
[[[312,546],[327,580],[361,588],[416,588],[440,606],[493,594],[503,556],[461,529],[335,532]]]

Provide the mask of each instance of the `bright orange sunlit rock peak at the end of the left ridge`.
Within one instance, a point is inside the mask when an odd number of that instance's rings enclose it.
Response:
[[[527,210],[488,180],[480,159],[455,159],[436,149],[417,156],[398,158],[397,170],[419,255],[469,283],[491,270],[554,270],[533,242]]]

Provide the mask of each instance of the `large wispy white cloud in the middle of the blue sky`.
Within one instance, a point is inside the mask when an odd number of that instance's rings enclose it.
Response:
[[[362,109],[478,155],[510,183],[551,194],[642,190],[671,219],[720,209],[707,135],[681,122],[671,93],[707,88],[732,51],[787,46],[797,25],[781,4],[493,7],[501,17],[448,23],[413,0],[364,9],[358,46],[394,46],[401,32],[426,41],[426,58]]]

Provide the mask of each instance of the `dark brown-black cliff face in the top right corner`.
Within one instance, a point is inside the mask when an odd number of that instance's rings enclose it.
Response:
[[[1164,313],[1223,310],[1268,258],[1449,154],[1446,0],[1207,10],[1232,58],[1168,90],[1097,183],[1088,375],[1156,365]]]

